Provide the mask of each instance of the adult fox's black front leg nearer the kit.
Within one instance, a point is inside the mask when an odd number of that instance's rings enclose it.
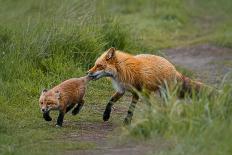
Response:
[[[109,100],[109,102],[106,105],[106,109],[103,113],[103,120],[104,121],[108,121],[110,118],[110,113],[111,113],[111,108],[114,105],[115,102],[117,102],[123,95],[124,95],[124,91],[123,92],[116,92]]]

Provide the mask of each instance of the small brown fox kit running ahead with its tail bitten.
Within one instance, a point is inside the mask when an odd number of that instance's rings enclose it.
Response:
[[[90,78],[87,76],[72,78],[50,90],[43,90],[39,98],[39,105],[44,119],[51,121],[49,112],[59,110],[56,126],[61,127],[65,113],[74,107],[72,114],[78,114],[84,104],[83,97],[89,80]]]

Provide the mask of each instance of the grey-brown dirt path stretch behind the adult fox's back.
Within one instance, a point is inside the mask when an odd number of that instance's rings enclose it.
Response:
[[[232,49],[213,45],[198,45],[164,51],[172,63],[196,73],[199,80],[219,84],[225,74],[232,72]]]

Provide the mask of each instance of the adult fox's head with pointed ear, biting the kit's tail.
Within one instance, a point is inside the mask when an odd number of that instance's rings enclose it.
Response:
[[[101,77],[115,77],[116,64],[116,49],[111,47],[96,60],[95,65],[88,71],[88,76],[94,80]]]

